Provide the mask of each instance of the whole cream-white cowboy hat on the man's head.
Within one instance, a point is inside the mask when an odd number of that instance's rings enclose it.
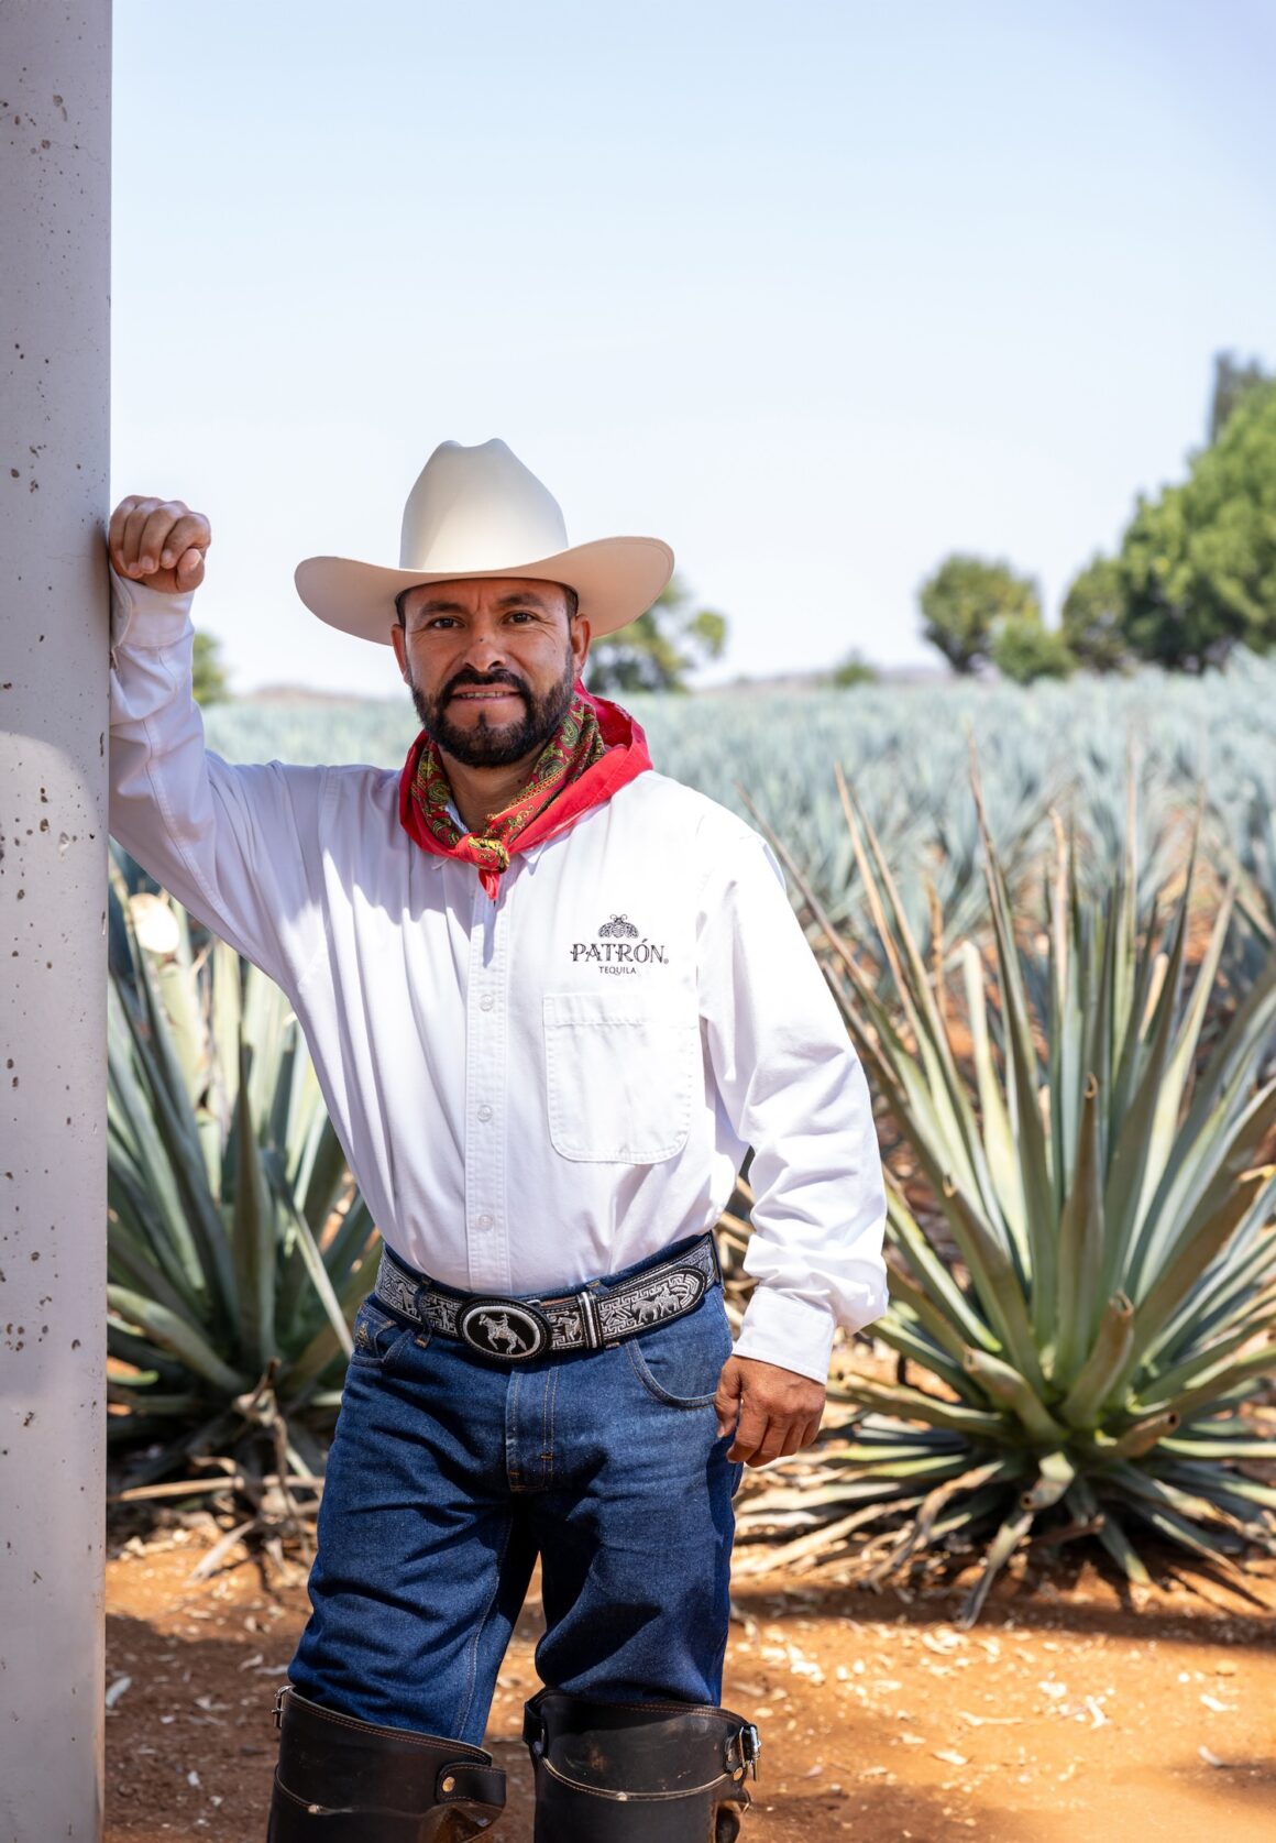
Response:
[[[644,614],[674,573],[659,538],[595,538],[567,546],[558,499],[505,442],[442,442],[403,507],[400,568],[348,557],[307,557],[296,566],[306,606],[359,640],[389,647],[394,597],[414,582],[458,577],[536,577],[580,597],[593,636]]]

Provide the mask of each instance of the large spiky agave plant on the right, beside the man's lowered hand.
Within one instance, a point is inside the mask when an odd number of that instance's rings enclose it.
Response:
[[[768,1557],[783,1559],[884,1526],[878,1578],[978,1541],[967,1622],[1031,1535],[1094,1533],[1134,1581],[1140,1528],[1223,1568],[1248,1543],[1274,1548],[1276,1489],[1250,1476],[1270,1445],[1248,1404],[1276,1369],[1276,1082],[1259,1080],[1276,957],[1206,1049],[1230,894],[1189,971],[1191,863],[1162,923],[1136,912],[1132,824],[1096,896],[1059,837],[1046,940],[1020,940],[983,829],[992,945],[987,964],[963,945],[959,1006],[843,798],[897,1014],[805,896],[946,1246],[891,1187],[875,1334],[915,1380],[853,1373],[849,1430],[755,1497],[746,1528],[805,1532]]]

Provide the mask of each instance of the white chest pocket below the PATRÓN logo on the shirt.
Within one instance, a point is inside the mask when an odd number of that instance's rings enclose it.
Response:
[[[687,1145],[700,1025],[652,993],[547,992],[549,1139],[586,1165],[659,1165]]]

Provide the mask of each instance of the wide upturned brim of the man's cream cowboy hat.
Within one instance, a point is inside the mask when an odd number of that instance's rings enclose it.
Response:
[[[501,569],[385,569],[350,557],[307,557],[296,566],[296,593],[328,627],[357,640],[390,645],[394,597],[418,582],[462,582],[530,577],[565,582],[580,599],[589,632],[615,634],[657,601],[674,573],[674,553],[659,538],[595,538],[554,557],[512,562]]]

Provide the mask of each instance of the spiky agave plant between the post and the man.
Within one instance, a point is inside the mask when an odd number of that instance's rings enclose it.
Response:
[[[138,881],[110,892],[110,1434],[160,1443],[134,1476],[263,1430],[309,1474],[376,1229],[284,993]]]

